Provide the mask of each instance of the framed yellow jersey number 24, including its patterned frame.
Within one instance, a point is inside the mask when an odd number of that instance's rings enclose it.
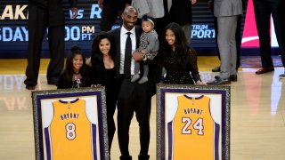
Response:
[[[230,159],[230,87],[157,84],[158,160]]]

